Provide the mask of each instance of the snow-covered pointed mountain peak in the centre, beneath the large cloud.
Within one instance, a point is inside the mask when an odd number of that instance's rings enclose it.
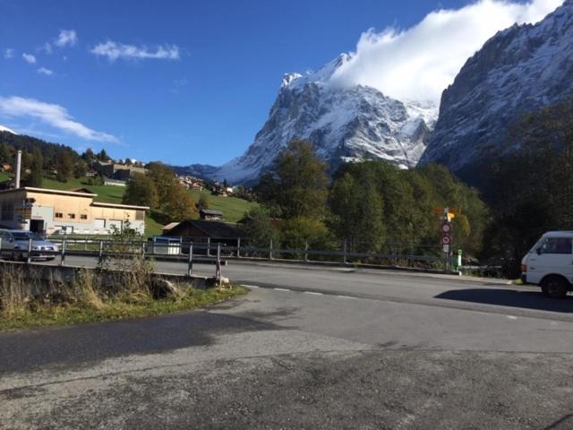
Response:
[[[232,184],[252,183],[296,138],[312,142],[332,169],[351,159],[386,159],[414,167],[437,107],[390,99],[370,87],[331,85],[330,77],[348,59],[342,54],[318,72],[286,74],[269,119],[243,156],[220,168],[189,168]]]

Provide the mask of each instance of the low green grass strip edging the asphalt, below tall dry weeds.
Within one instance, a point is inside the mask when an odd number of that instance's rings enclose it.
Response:
[[[99,305],[39,305],[35,309],[21,309],[13,313],[0,314],[0,331],[45,327],[52,325],[71,325],[79,323],[98,323],[117,321],[143,316],[172,314],[174,312],[212,305],[246,294],[247,289],[240,286],[231,288],[191,289],[182,297],[143,300],[129,303],[112,300]]]

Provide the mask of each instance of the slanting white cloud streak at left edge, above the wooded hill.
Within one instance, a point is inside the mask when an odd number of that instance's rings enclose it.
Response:
[[[36,99],[0,97],[0,116],[31,117],[87,141],[118,142],[115,136],[97,132],[74,120],[65,107]]]

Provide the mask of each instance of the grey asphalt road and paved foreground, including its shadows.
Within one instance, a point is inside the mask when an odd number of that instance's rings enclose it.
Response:
[[[158,270],[184,270],[170,264]],[[386,271],[223,270],[251,293],[0,333],[0,428],[573,428],[573,297]]]

